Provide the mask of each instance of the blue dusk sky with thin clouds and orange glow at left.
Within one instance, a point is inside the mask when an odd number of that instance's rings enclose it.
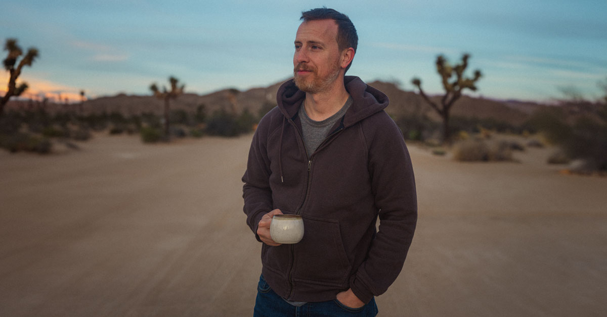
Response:
[[[29,95],[80,99],[147,94],[174,75],[192,93],[240,90],[292,74],[300,12],[326,5],[358,29],[348,75],[441,91],[434,61],[470,53],[476,96],[552,101],[560,88],[600,96],[607,76],[607,2],[498,1],[2,1],[0,39],[36,47]],[[2,75],[4,76],[4,75]],[[0,77],[3,79],[3,77]],[[0,81],[4,82],[4,80]],[[0,89],[4,88],[4,84]]]

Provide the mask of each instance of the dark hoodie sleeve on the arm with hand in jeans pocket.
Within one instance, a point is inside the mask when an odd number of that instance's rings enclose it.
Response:
[[[364,302],[384,293],[398,277],[417,222],[413,167],[402,133],[385,112],[374,117],[365,138],[373,195],[380,209],[379,232],[367,259],[350,279],[354,294]]]

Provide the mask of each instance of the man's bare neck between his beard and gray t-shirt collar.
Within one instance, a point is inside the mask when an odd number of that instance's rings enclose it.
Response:
[[[348,100],[344,81],[336,81],[337,85],[330,90],[319,93],[306,93],[304,108],[308,118],[314,121],[323,121],[339,112]]]

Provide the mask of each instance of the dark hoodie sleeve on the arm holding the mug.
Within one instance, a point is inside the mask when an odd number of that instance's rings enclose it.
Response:
[[[268,117],[266,115],[262,118],[253,135],[245,175],[242,176],[242,181],[245,183],[242,187],[242,196],[245,199],[243,210],[246,214],[246,224],[253,230],[257,241],[260,242],[261,240],[257,235],[257,225],[263,215],[273,209],[270,189],[270,160],[266,150],[267,125],[270,121]]]

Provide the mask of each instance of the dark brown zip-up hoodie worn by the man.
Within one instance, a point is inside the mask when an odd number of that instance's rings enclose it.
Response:
[[[262,244],[262,274],[290,301],[328,301],[350,287],[370,301],[395,281],[413,238],[415,180],[388,98],[358,77],[345,76],[345,87],[353,104],[308,158],[297,116],[305,93],[293,79],[280,86],[242,178],[254,233],[273,209],[304,218],[299,243]]]

